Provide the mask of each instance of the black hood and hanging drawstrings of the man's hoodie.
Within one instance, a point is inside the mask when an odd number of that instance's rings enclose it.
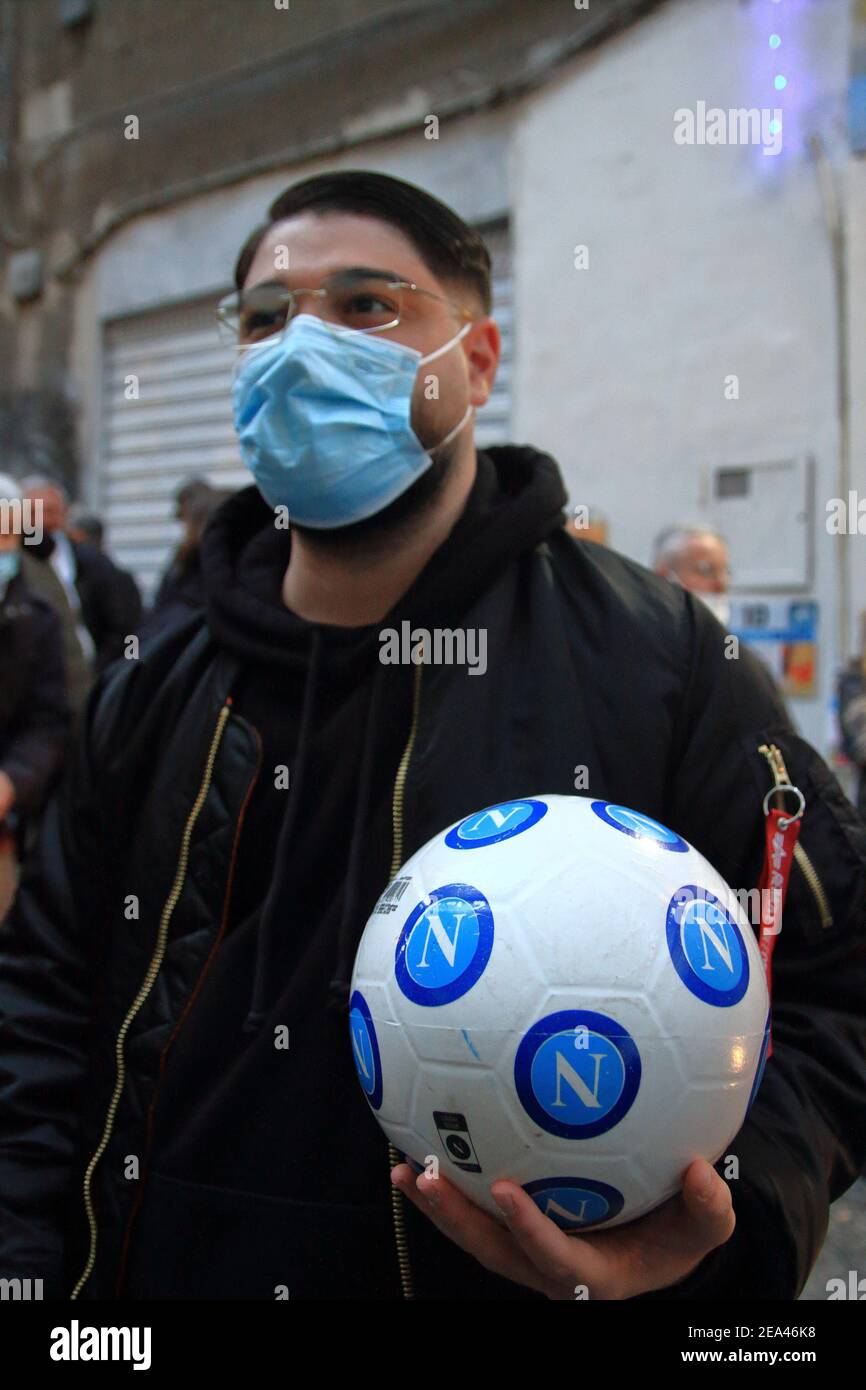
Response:
[[[249,1031],[261,1026],[274,988],[279,903],[285,865],[304,805],[310,746],[321,701],[322,671],[331,680],[357,674],[368,687],[361,731],[360,781],[352,813],[349,860],[336,940],[331,1006],[345,1009],[354,955],[359,899],[366,862],[364,837],[379,730],[388,719],[386,667],[373,659],[384,627],[405,619],[428,628],[453,627],[475,596],[523,552],[564,523],[566,491],[553,459],[537,449],[492,448],[478,453],[478,470],[463,513],[416,581],[378,623],[343,628],[309,623],[282,602],[282,578],[292,552],[291,530],[274,525],[274,512],[257,488],[229,498],[210,523],[202,545],[209,627],[242,663],[289,673],[302,687],[297,755],[279,830],[274,876],[261,909]],[[370,678],[368,673],[374,674]]]

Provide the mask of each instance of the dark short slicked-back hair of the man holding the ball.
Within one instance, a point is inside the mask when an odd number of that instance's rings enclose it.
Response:
[[[441,279],[470,286],[491,311],[491,256],[481,235],[438,197],[400,178],[343,170],[292,183],[268,208],[268,221],[250,232],[235,264],[235,288],[243,289],[253,257],[275,222],[296,213],[361,213],[399,228],[424,264]]]

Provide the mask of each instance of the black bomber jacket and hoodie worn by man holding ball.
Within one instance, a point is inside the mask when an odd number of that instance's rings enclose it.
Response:
[[[346,1026],[395,869],[474,809],[573,794],[582,766],[591,795],[753,887],[773,742],[812,874],[791,881],[774,1052],[730,1145],[737,1230],[660,1297],[796,1295],[866,1159],[866,833],[748,653],[570,538],[563,505],[545,455],[481,453],[445,543],[354,630],[282,606],[291,535],[254,489],[217,513],[206,620],[101,678],[0,933],[0,1273],[78,1297],[400,1297]],[[403,621],[484,631],[485,674],[384,664]],[[535,1297],[405,1220],[418,1297]]]

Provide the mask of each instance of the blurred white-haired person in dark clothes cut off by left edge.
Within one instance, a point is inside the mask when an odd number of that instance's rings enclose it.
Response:
[[[21,575],[14,478],[0,474],[0,917],[15,881],[15,851],[64,756],[70,709],[60,620]]]

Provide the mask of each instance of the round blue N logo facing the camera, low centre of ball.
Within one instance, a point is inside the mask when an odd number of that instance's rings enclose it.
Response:
[[[541,1129],[592,1138],[619,1125],[641,1084],[641,1058],[605,1013],[564,1009],[534,1023],[517,1048],[514,1087]]]

